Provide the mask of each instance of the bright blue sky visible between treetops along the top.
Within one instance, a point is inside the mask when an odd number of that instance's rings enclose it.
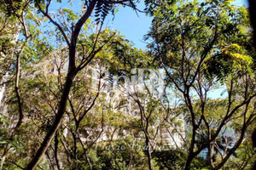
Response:
[[[199,0],[203,1],[203,0]],[[71,8],[74,11],[79,11],[81,8],[81,2],[73,1],[73,7]],[[247,0],[236,0],[232,3],[236,5],[247,6]],[[50,5],[49,11],[56,11],[58,8],[70,8],[68,5],[68,0],[62,0],[62,3],[56,3],[55,0]],[[137,4],[137,8],[144,8],[144,3],[141,2]],[[136,13],[132,8],[119,8],[118,14],[113,15],[109,14],[105,23],[108,23],[108,27],[114,30],[120,31],[120,34],[125,36],[128,40],[134,43],[136,48],[146,48],[146,42],[143,42],[143,37],[149,31],[151,25],[151,18],[146,16],[143,13]]]

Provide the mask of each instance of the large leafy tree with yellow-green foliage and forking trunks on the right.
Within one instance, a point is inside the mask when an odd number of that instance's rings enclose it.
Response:
[[[248,23],[245,8],[236,8],[228,1],[166,1],[154,10],[153,26],[148,34],[153,39],[150,53],[166,70],[169,87],[183,96],[191,123],[185,169],[191,167],[204,147],[209,151],[211,169],[223,167],[244,141],[247,127],[253,125],[254,53],[248,43]],[[219,82],[226,85],[228,97],[217,116],[211,114],[209,92]],[[241,122],[238,128],[236,119]],[[212,144],[225,127],[240,129],[239,135],[226,156],[213,162]],[[196,146],[201,129],[206,129],[207,139]]]

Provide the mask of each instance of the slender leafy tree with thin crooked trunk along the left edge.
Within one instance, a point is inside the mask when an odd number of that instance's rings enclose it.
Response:
[[[3,36],[3,63],[1,67],[3,68],[3,75],[1,75],[1,85],[7,86],[8,88],[15,90],[15,102],[17,105],[17,112],[19,120],[16,122],[14,129],[10,131],[10,135],[6,137],[8,141],[15,139],[15,134],[20,129],[20,125],[24,118],[24,113],[22,109],[22,97],[20,96],[20,60],[28,61],[29,59],[22,59],[26,55],[28,42],[30,40],[35,40],[35,27],[32,24],[38,26],[38,19],[32,14],[31,9],[29,8],[29,1],[23,1],[20,3],[12,1],[4,1],[1,4],[1,14],[3,15],[3,27],[2,33]],[[31,20],[30,23],[27,23],[27,20]],[[8,24],[8,25],[7,25]],[[20,34],[20,38],[19,38]],[[17,114],[15,112],[15,115]],[[3,160],[11,149],[11,144],[4,144],[2,154],[2,163]]]

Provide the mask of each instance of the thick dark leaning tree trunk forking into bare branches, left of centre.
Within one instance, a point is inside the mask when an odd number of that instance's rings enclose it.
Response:
[[[108,2],[108,1],[85,1],[85,8],[86,11],[81,14],[79,20],[71,26],[71,29],[69,30],[71,32],[71,35],[67,35],[67,27],[62,27],[61,24],[57,23],[49,14],[49,5],[51,1],[48,2],[41,2],[36,1],[35,4],[38,8],[38,10],[44,14],[45,17],[49,19],[49,21],[55,25],[59,31],[61,31],[61,36],[67,43],[68,47],[68,71],[67,71],[67,79],[64,84],[64,88],[61,94],[61,99],[59,103],[59,108],[57,111],[57,114],[55,116],[55,122],[53,122],[52,127],[49,129],[49,132],[46,134],[43,143],[40,145],[36,155],[33,157],[32,161],[27,165],[26,169],[34,169],[40,158],[44,155],[44,152],[49,147],[49,144],[51,140],[54,138],[54,135],[57,131],[57,129],[61,126],[61,122],[63,120],[63,115],[66,111],[67,107],[67,100],[68,100],[68,94],[70,92],[70,89],[73,84],[73,78],[76,77],[77,73],[84,69],[86,65],[88,65],[95,57],[95,55],[106,45],[106,43],[103,43],[101,46],[97,44],[97,37],[95,39],[94,46],[92,46],[91,51],[88,55],[84,56],[84,58],[81,60],[81,62],[77,65],[76,60],[76,52],[77,52],[77,43],[79,41],[79,33],[82,29],[82,26],[84,26],[84,23],[90,18],[90,15],[93,12],[93,9],[96,8],[96,17],[99,17],[99,14],[102,14],[102,19],[105,18],[105,16],[108,14],[108,11],[113,9],[115,4],[128,4],[133,5],[132,1],[116,1],[116,2]],[[69,14],[70,11],[68,11]],[[97,21],[99,21],[101,18],[98,18]],[[101,27],[102,27],[101,23]],[[100,34],[100,31],[98,32],[98,35]],[[112,36],[109,37],[111,39]]]

